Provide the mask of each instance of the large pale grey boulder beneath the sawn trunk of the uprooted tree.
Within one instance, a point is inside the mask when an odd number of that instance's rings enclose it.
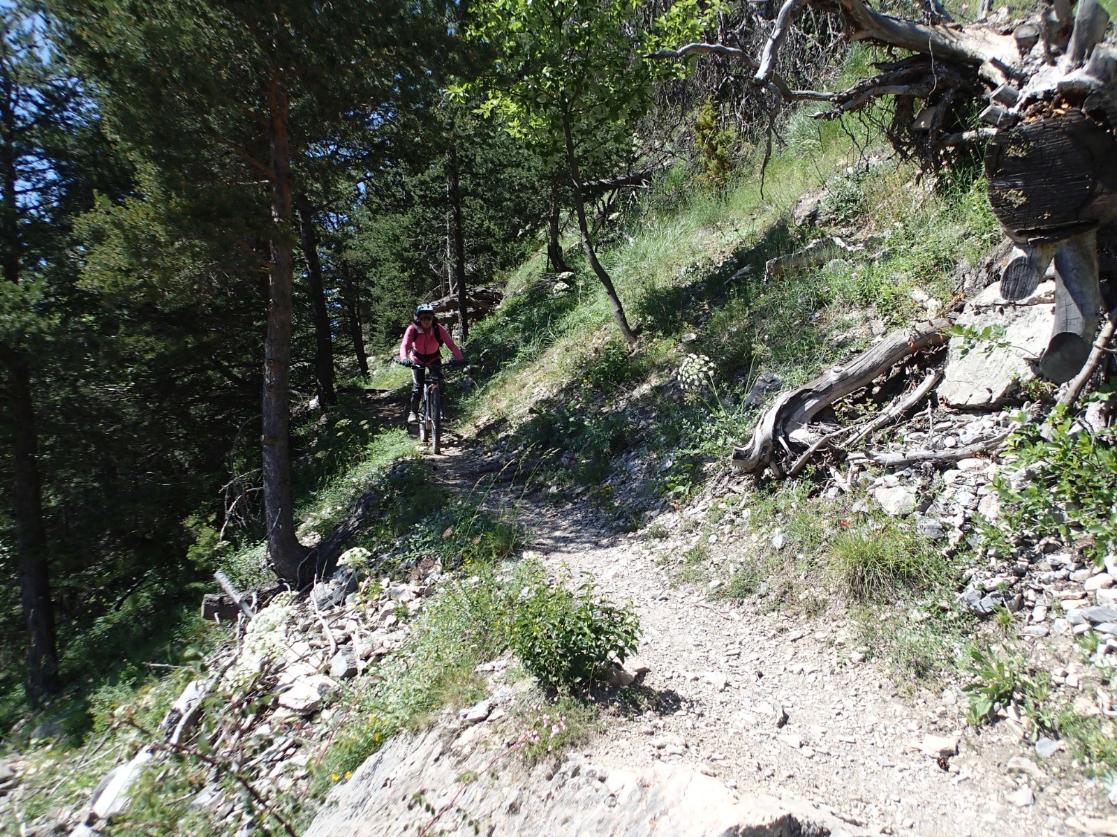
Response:
[[[986,407],[1004,403],[1020,384],[1035,378],[1029,358],[1039,358],[1051,338],[1054,282],[1047,281],[1019,302],[1001,297],[994,282],[966,302],[957,325],[982,331],[1005,329],[997,341],[952,337],[938,397],[952,407]],[[996,345],[1004,344],[1004,345]]]

